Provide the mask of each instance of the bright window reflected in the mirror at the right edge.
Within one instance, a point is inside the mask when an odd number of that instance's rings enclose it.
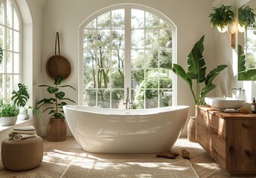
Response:
[[[246,68],[256,68],[256,29],[248,28],[244,33]]]

